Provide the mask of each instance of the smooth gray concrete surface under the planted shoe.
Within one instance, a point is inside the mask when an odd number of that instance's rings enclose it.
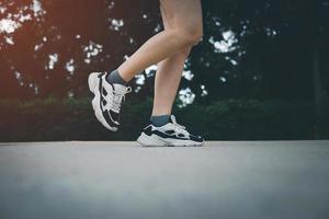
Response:
[[[329,141],[0,143],[1,219],[328,219]]]

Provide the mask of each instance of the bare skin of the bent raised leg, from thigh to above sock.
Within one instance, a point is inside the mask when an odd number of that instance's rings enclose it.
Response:
[[[117,69],[125,80],[178,51],[192,46],[202,37],[201,0],[160,0],[173,28],[167,28],[146,42]]]

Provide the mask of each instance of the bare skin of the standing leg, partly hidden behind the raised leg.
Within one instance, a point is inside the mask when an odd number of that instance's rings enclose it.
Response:
[[[161,7],[161,14],[164,28],[174,28],[174,23],[167,18]],[[184,62],[191,51],[191,47],[183,48],[173,56],[162,60],[158,65],[155,81],[155,100],[152,116],[171,115],[172,105],[181,81]]]

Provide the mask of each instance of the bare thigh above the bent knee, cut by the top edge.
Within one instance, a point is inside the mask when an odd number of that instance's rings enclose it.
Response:
[[[160,0],[164,28],[202,28],[201,0]]]

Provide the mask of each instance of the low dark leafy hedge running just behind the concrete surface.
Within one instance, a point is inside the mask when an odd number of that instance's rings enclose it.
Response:
[[[0,101],[0,141],[135,140],[149,119],[151,101],[127,102],[122,127],[105,130],[90,100]],[[207,140],[314,139],[314,108],[307,102],[226,100],[175,108],[179,123]],[[329,138],[328,111],[318,118]]]

